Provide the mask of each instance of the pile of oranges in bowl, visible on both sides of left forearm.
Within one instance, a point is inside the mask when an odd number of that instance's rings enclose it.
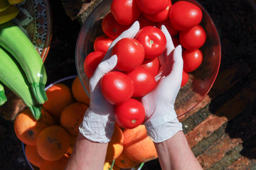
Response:
[[[42,105],[41,119],[36,121],[26,108],[16,116],[14,131],[25,144],[25,154],[33,166],[44,169],[65,169],[73,152],[78,127],[87,110],[90,98],[78,77],[72,85],[60,82],[46,90],[48,101]],[[124,129],[115,125],[107,147],[104,170],[130,169],[142,162],[156,159],[154,143],[146,135],[144,125]]]

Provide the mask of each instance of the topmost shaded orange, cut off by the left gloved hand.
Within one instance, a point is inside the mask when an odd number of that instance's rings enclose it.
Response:
[[[72,83],[72,93],[73,96],[75,97],[75,100],[86,104],[87,106],[90,105],[90,98],[86,94],[85,89],[83,89],[81,81],[79,77],[75,77]]]

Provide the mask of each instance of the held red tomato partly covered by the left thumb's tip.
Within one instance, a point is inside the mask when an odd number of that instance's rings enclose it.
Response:
[[[134,38],[122,38],[114,45],[112,55],[117,55],[117,69],[129,72],[142,64],[145,52]]]

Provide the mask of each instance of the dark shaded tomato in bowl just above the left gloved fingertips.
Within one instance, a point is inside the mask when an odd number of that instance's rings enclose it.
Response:
[[[116,39],[124,30],[127,30],[130,26],[124,26],[118,23],[112,13],[107,13],[107,15],[102,20],[102,30],[105,35],[112,39]]]

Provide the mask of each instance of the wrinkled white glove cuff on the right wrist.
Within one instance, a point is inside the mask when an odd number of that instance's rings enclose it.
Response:
[[[151,138],[151,140],[154,142],[163,142],[173,137],[176,132],[183,130],[182,124],[177,118],[170,118],[170,115],[165,115],[158,118],[157,121],[151,120],[144,124],[146,126],[147,135]],[[160,123],[160,120],[164,120],[164,122]]]

